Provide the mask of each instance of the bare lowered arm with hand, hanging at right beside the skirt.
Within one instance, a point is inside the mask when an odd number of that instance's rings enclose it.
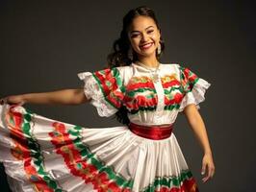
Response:
[[[212,179],[215,174],[215,164],[206,128],[203,119],[194,104],[184,108],[184,114],[204,151],[201,174],[204,175],[207,169],[207,176],[202,179],[203,182],[206,182],[207,180]]]

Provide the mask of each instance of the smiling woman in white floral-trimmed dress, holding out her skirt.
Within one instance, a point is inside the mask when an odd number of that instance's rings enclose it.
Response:
[[[203,181],[210,180],[215,165],[197,110],[210,84],[185,66],[160,63],[164,48],[154,12],[139,7],[123,18],[110,66],[78,74],[84,88],[2,99],[0,160],[13,191],[198,191],[172,133],[181,111],[204,152]],[[82,129],[21,107],[86,102],[124,126]]]

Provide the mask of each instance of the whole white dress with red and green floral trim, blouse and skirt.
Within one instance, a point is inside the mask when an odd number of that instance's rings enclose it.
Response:
[[[176,63],[160,64],[157,79],[136,63],[78,76],[100,116],[124,107],[139,133],[129,125],[84,128],[1,106],[0,161],[13,191],[198,191],[174,133],[162,138],[150,128],[173,126],[188,105],[200,108],[207,81]]]

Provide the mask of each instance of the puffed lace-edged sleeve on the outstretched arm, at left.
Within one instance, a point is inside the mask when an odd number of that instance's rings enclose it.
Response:
[[[84,81],[85,95],[90,99],[90,104],[97,108],[99,116],[109,117],[122,106],[125,88],[119,70],[115,67],[78,74],[80,80]]]

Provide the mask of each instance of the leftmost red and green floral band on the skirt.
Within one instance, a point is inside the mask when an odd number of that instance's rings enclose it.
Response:
[[[23,161],[23,169],[26,177],[34,184],[37,191],[63,191],[45,170],[39,144],[31,131],[31,113],[26,111],[23,114],[13,111],[13,108],[14,106],[6,114],[6,122],[10,128],[13,143],[15,144],[13,149],[11,149],[12,155],[17,160]]]

